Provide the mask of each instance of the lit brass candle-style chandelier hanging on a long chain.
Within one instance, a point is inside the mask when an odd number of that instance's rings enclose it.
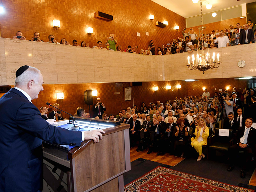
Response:
[[[209,52],[209,48],[207,46],[207,53],[204,53],[204,43],[206,42],[206,38],[204,36],[204,34],[206,34],[205,32],[205,28],[203,27],[203,14],[202,14],[202,0],[200,0],[200,5],[201,5],[201,24],[202,26],[199,27],[199,38],[198,38],[198,44],[197,44],[197,51],[196,51],[196,58],[194,56],[194,54],[191,57],[191,62],[190,62],[190,58],[188,56],[188,68],[190,70],[193,69],[198,69],[199,71],[207,71],[208,69],[213,69],[213,68],[218,68],[220,66],[220,54],[217,54],[217,62],[215,62],[215,52],[213,52],[212,54],[212,60],[210,57],[210,52]],[[202,49],[202,53],[198,54],[198,50],[199,50],[199,44],[201,44],[200,49]],[[199,55],[201,57],[199,57]],[[206,56],[206,58],[204,58]],[[196,59],[196,61],[195,61]]]

